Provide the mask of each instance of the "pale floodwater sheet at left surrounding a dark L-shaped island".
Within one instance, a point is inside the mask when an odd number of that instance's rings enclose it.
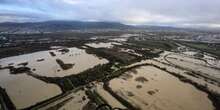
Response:
[[[72,74],[78,74],[89,68],[93,68],[98,64],[108,63],[108,60],[99,59],[94,55],[87,54],[83,49],[68,49],[69,52],[67,53],[62,53],[58,50],[49,50],[8,57],[0,59],[0,65],[5,67],[8,66],[8,64],[13,63],[12,66],[17,67],[17,64],[19,63],[28,62],[27,67],[31,68],[33,72],[38,75],[47,77],[64,77]],[[52,56],[49,52],[53,52],[55,56]],[[57,64],[56,59],[61,59],[65,64],[74,65],[68,70],[62,70],[60,65]]]

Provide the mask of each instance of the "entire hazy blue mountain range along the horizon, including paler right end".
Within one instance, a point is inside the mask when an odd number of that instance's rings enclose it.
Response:
[[[192,29],[169,26],[126,25],[119,22],[88,22],[88,21],[44,21],[44,22],[4,22],[0,23],[3,33],[34,33],[57,32],[86,29],[144,29],[150,31],[192,31]]]

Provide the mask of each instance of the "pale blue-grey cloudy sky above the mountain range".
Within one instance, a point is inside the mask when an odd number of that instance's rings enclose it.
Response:
[[[46,20],[220,28],[220,0],[0,0],[0,22]]]

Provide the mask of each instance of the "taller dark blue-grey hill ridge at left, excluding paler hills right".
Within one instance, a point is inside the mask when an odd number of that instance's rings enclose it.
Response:
[[[81,22],[81,21],[46,21],[13,23],[5,22],[0,24],[1,32],[53,32],[64,30],[81,29],[127,29],[131,26],[118,22]]]

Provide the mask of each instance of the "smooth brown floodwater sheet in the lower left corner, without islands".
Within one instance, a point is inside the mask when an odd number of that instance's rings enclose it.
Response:
[[[0,73],[0,86],[6,89],[17,109],[29,107],[62,92],[57,85],[47,84],[25,73],[11,75],[8,69],[0,70]]]

